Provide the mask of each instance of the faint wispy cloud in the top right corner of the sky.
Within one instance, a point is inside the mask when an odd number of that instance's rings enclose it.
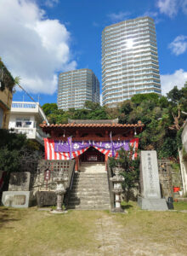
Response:
[[[176,16],[179,9],[184,14],[187,14],[187,0],[157,0],[156,5],[161,14],[167,15],[170,18]]]

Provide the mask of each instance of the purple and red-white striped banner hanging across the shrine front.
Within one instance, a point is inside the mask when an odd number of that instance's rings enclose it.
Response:
[[[125,141],[108,141],[108,142],[95,142],[91,140],[65,142],[44,138],[45,145],[45,159],[46,160],[70,160],[84,153],[89,147],[94,147],[102,154],[108,156],[118,156],[118,150],[124,148],[129,149],[129,144],[133,148],[133,159],[137,156],[137,149],[139,146],[139,138],[133,138]]]

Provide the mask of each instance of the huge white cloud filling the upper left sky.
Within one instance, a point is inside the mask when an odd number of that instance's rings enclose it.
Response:
[[[32,93],[53,94],[55,72],[77,66],[71,61],[70,33],[59,20],[46,19],[31,0],[0,1],[0,38],[4,63]]]

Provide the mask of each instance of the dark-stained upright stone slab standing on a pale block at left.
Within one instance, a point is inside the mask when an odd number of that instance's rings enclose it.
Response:
[[[29,191],[30,183],[30,172],[12,172],[9,178],[8,191]]]

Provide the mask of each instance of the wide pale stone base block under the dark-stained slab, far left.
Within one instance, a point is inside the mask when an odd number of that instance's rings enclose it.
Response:
[[[2,203],[5,207],[27,208],[35,204],[31,191],[4,191]]]

